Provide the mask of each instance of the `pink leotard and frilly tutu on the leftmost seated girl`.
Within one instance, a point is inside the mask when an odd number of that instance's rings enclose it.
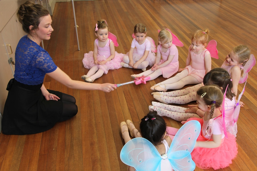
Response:
[[[109,56],[111,56],[111,52],[110,52],[110,42],[112,42],[111,39],[109,39],[107,41],[107,43],[105,44],[104,47],[100,47],[98,45],[98,38],[95,39],[95,43],[97,45],[97,49],[98,49],[98,54],[97,54],[97,60],[98,61],[104,61],[107,58],[109,58]],[[99,64],[95,64],[94,63],[94,58],[93,58],[93,51],[90,51],[89,53],[85,53],[84,54],[84,58],[82,60],[83,65],[85,68],[87,69],[91,69],[93,66],[97,65],[97,67],[102,70],[104,70],[104,73],[107,74],[108,70],[114,70],[114,69],[119,69],[121,68],[121,61],[123,58],[124,54],[121,53],[117,53],[115,51],[115,57],[113,58],[113,60],[106,62],[106,64],[104,65],[99,65]]]

